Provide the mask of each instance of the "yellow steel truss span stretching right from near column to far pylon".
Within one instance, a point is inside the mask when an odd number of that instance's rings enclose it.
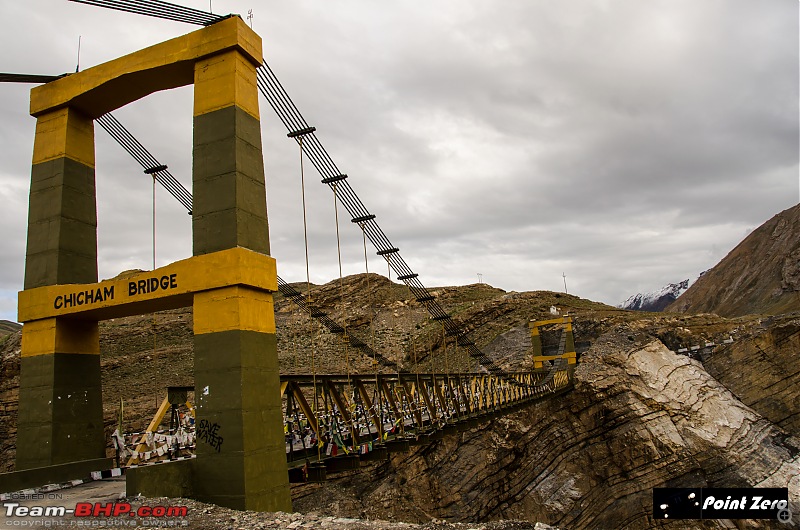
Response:
[[[407,450],[495,415],[572,389],[574,365],[497,377],[474,373],[283,375],[286,456],[290,467],[337,455]],[[511,384],[512,378],[516,384]],[[306,477],[306,479],[308,479]]]

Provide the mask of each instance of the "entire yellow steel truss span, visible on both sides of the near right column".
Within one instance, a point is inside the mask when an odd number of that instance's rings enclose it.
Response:
[[[574,365],[509,374],[296,374],[281,376],[286,461],[291,482],[316,482],[327,474],[358,469],[451,432],[508,414],[573,387]],[[190,390],[178,387],[173,390]],[[213,426],[190,420],[191,404],[172,407],[169,429],[155,430],[170,410],[164,398],[145,432],[115,437],[128,467],[193,458],[196,443],[221,443]],[[147,440],[151,442],[145,443]]]

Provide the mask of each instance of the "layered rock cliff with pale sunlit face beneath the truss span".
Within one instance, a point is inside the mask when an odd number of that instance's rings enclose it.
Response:
[[[800,499],[800,439],[698,361],[648,340],[620,326],[582,357],[569,395],[394,455],[371,473],[303,486],[296,506],[369,518],[654,528],[663,524],[651,515],[654,487],[788,486]],[[678,527],[732,527],[692,523]]]

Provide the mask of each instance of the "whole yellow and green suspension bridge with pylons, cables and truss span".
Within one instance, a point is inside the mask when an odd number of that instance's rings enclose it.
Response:
[[[37,129],[25,290],[19,298],[24,326],[18,471],[0,476],[0,485],[56,480],[107,463],[97,322],[119,316],[194,309],[192,418],[178,413],[191,389],[170,389],[145,432],[132,442],[119,435],[115,444],[129,457],[129,492],[289,511],[289,481],[321,481],[361,460],[430,443],[571,388],[577,360],[571,319],[531,324],[532,371],[506,371],[485,355],[391,243],[241,18],[159,0],[71,1],[203,29],[75,74],[0,75],[44,83],[31,93]],[[154,91],[188,84],[195,87],[194,194],[111,114]],[[265,196],[258,94],[299,146],[303,190],[302,161],[308,160],[333,193],[337,244],[341,205],[361,231],[367,272],[369,241],[441,327],[442,344],[451,341],[470,360],[469,371],[402,365],[318,306],[308,264],[305,292],[277,275],[265,201],[259,202]],[[97,282],[93,121],[192,215],[191,258]],[[305,243],[307,255],[307,237]],[[341,253],[339,259],[341,271]],[[352,348],[369,357],[374,373],[353,373],[348,362],[347,373],[279,374],[273,292],[338,337],[345,356]],[[560,342],[545,351],[542,331],[552,327]],[[313,350],[312,345],[312,355]],[[69,397],[62,405],[64,395]],[[158,432],[168,412],[170,429]],[[153,460],[171,461],[141,465]],[[176,491],[176,483],[191,487]]]

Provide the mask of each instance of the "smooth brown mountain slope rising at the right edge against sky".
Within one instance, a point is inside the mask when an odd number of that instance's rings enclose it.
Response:
[[[800,205],[753,230],[666,310],[729,317],[800,310]]]

